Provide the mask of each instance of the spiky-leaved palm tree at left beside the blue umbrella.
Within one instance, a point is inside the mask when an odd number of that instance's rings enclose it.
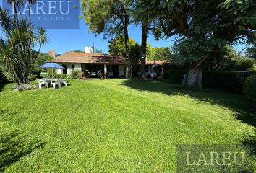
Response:
[[[47,43],[48,37],[46,30],[31,26],[24,18],[15,21],[17,25],[12,25],[14,20],[7,10],[0,7],[0,26],[6,37],[0,40],[0,58],[4,74],[12,74],[18,84],[28,84],[40,48]],[[37,46],[39,50],[35,51]]]

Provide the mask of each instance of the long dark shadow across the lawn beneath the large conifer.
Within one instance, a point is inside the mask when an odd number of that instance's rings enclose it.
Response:
[[[166,95],[186,95],[197,102],[210,102],[213,105],[220,105],[236,112],[236,119],[256,128],[256,103],[244,99],[239,94],[229,94],[220,91],[195,91],[184,89],[182,86],[170,84],[168,81],[138,80],[124,81],[123,85],[132,89],[147,92],[160,92]]]

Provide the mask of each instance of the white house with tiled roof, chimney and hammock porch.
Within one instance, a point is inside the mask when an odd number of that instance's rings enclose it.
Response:
[[[127,77],[127,61],[122,56],[93,53],[93,48],[85,47],[83,52],[66,52],[57,56],[50,50],[51,62],[61,64],[65,69],[57,70],[57,74],[71,74],[72,70],[89,71],[91,74],[104,73],[105,76],[114,78]]]

